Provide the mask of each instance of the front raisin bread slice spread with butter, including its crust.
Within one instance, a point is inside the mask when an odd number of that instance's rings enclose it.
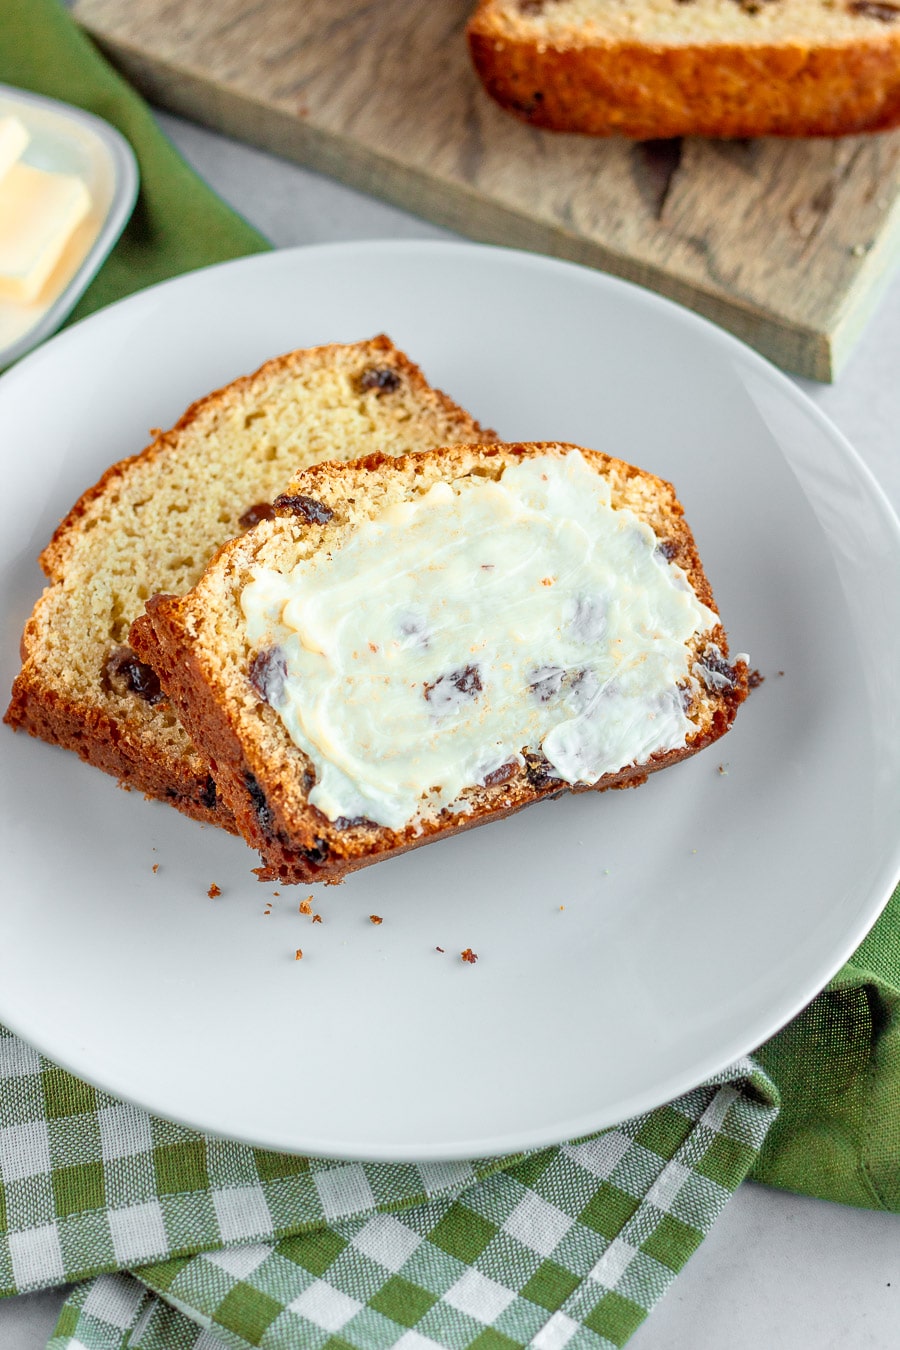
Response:
[[[264,880],[642,783],[748,687],[671,485],[563,444],[320,464],[147,614]]]

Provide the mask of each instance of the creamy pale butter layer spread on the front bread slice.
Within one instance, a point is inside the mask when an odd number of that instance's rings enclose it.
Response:
[[[688,643],[718,616],[578,451],[434,483],[242,606],[329,819],[402,829],[522,752],[569,784],[680,748]]]

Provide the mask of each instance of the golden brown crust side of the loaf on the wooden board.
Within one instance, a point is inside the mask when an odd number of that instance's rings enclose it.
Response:
[[[841,136],[900,126],[900,22],[815,46],[538,42],[482,4],[468,26],[486,90],[536,127],[595,136]],[[900,19],[900,15],[899,15]]]

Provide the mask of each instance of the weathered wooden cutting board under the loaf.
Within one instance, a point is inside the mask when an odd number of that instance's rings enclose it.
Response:
[[[474,0],[77,0],[155,104],[474,239],[679,300],[833,379],[900,252],[900,132],[594,140],[483,93]]]

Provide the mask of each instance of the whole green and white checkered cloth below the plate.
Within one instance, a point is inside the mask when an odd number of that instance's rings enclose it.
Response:
[[[609,1350],[776,1112],[746,1060],[529,1154],[335,1162],[157,1119],[0,1029],[0,1293],[82,1281],[54,1350]]]

